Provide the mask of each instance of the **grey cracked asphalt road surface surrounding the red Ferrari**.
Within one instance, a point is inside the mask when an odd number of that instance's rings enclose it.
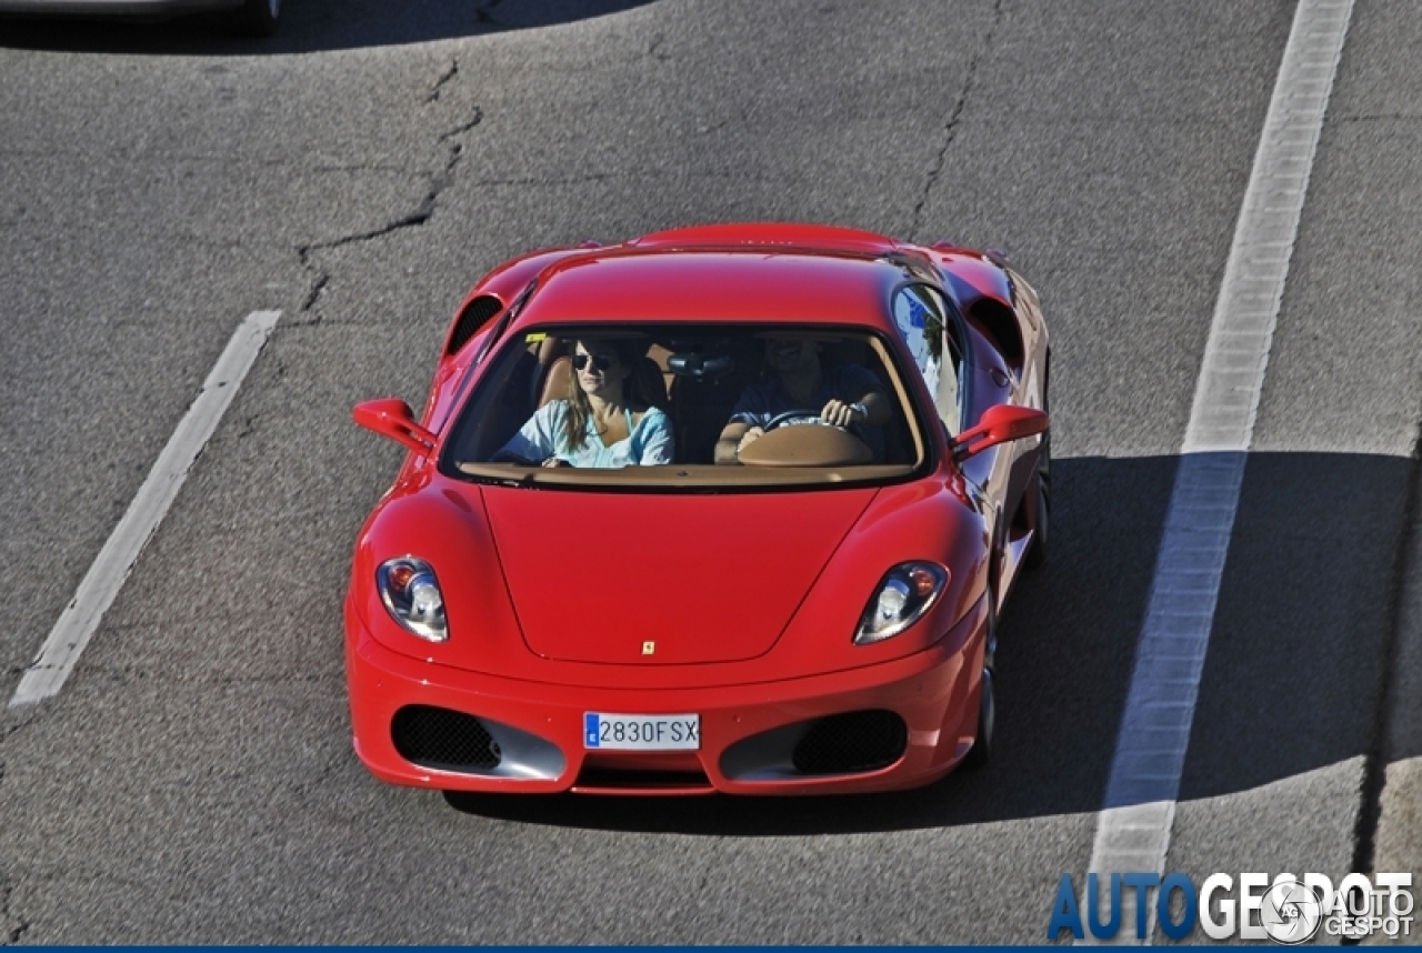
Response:
[[[1288,0],[289,0],[0,21],[0,696],[222,351],[282,321],[57,698],[0,720],[0,942],[1041,942],[1081,876]],[[1358,0],[1167,871],[1374,855],[1422,420],[1422,18]],[[499,802],[350,750],[340,603],[462,293],[540,245],[835,222],[1007,249],[1057,515],[1001,757],[876,798]],[[1406,656],[1411,657],[1411,656]]]

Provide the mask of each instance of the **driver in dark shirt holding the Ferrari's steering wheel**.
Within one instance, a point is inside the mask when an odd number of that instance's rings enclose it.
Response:
[[[715,462],[739,462],[741,451],[764,435],[772,420],[798,408],[805,410],[803,422],[818,415],[825,424],[845,427],[869,444],[875,459],[883,457],[879,428],[892,411],[879,378],[857,364],[825,367],[822,348],[812,337],[792,334],[765,341],[765,363],[775,376],[741,394],[717,441]]]

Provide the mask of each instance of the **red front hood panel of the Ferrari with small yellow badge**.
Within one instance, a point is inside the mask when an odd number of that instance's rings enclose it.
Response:
[[[482,495],[530,650],[695,664],[769,651],[875,491]]]

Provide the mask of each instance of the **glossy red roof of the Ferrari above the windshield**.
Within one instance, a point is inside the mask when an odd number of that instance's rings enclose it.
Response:
[[[519,324],[774,321],[889,329],[904,280],[893,246],[802,247],[653,240],[569,256],[538,279]]]

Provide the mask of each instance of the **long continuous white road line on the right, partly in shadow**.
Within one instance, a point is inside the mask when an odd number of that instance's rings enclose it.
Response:
[[[1204,346],[1098,819],[1088,869],[1102,875],[1165,873],[1264,370],[1351,16],[1352,0],[1300,0],[1294,11]],[[1133,909],[1122,923],[1135,923]]]

